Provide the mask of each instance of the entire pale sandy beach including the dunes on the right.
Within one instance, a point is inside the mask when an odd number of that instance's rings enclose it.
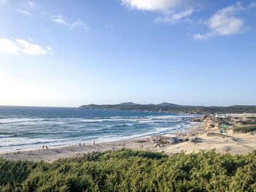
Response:
[[[230,115],[230,117],[244,118],[255,114]],[[20,152],[1,153],[0,157],[9,160],[29,160],[53,162],[60,158],[78,157],[93,151],[104,152],[107,150],[121,150],[129,148],[133,150],[151,150],[154,152],[165,152],[168,155],[175,153],[197,153],[200,151],[217,150],[219,153],[247,154],[256,150],[256,135],[250,133],[233,133],[228,128],[225,133],[219,133],[217,125],[212,124],[212,118],[206,118],[198,126],[187,133],[176,133],[176,137],[183,139],[174,144],[158,145],[156,137],[140,137],[134,139],[120,140],[116,142],[102,142],[93,144],[71,145],[66,147],[50,147],[48,150],[26,150]],[[157,136],[165,137],[165,136]]]

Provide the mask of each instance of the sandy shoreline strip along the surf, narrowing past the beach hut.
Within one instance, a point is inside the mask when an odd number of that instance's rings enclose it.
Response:
[[[177,133],[189,134],[194,131],[200,123],[191,122],[192,127],[188,131],[184,132],[166,132],[165,134],[176,135]],[[194,125],[193,125],[194,124]],[[196,125],[195,125],[196,124]],[[105,152],[108,150],[121,150],[123,148],[132,150],[153,150],[154,143],[152,143],[153,137],[159,137],[165,134],[149,134],[143,137],[132,137],[129,139],[118,139],[110,142],[96,142],[94,146],[93,143],[81,143],[79,145],[62,145],[49,147],[48,150],[43,150],[42,148],[24,149],[24,150],[10,150],[0,152],[0,158],[9,160],[29,160],[29,161],[48,161],[53,162],[61,158],[72,158],[79,157],[86,153],[91,152]],[[141,142],[138,143],[137,141]],[[143,145],[143,147],[141,147]]]

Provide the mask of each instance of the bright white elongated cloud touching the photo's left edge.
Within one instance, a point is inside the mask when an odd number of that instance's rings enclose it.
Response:
[[[32,44],[23,39],[16,39],[12,41],[10,39],[0,39],[0,52],[10,53],[12,55],[46,55],[53,53],[50,47],[41,47],[37,44]]]

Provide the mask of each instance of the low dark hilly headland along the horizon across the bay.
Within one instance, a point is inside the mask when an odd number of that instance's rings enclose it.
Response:
[[[127,110],[145,112],[174,112],[174,113],[256,113],[256,106],[235,105],[230,107],[204,107],[185,106],[164,102],[162,104],[135,104],[133,102],[123,102],[121,104],[89,104],[78,107],[83,110]]]

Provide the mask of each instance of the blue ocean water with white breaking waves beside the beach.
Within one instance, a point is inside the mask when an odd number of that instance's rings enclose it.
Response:
[[[0,152],[78,145],[189,131],[188,118],[159,112],[80,110],[60,107],[1,107]],[[185,118],[185,119],[184,119]]]

